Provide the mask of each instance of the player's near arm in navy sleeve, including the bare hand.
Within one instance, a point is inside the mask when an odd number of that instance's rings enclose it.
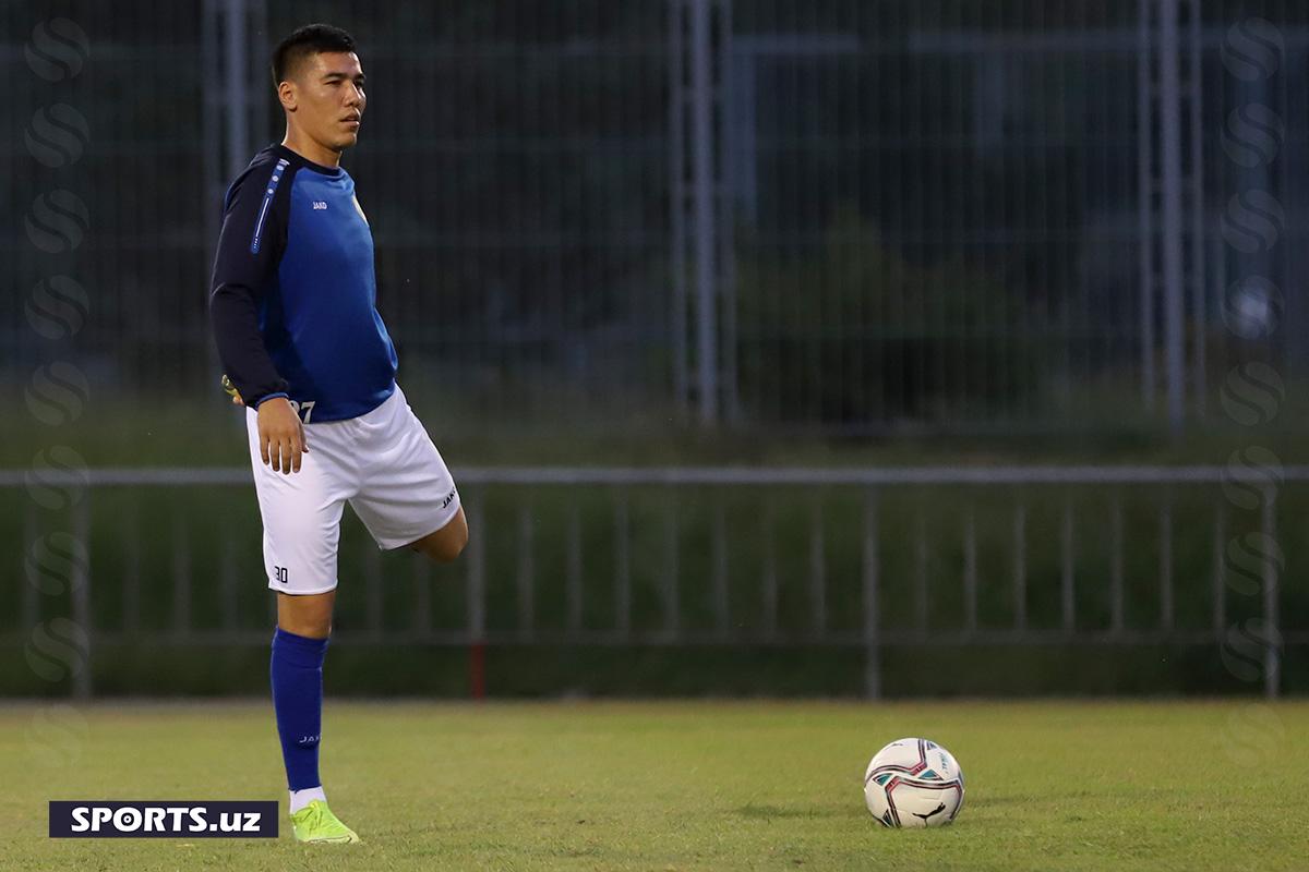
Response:
[[[300,472],[304,425],[287,399],[259,333],[259,299],[285,246],[285,165],[255,167],[233,186],[209,282],[209,319],[219,358],[250,408],[259,411],[259,454],[275,472]],[[267,176],[267,178],[263,178]],[[278,192],[281,190],[283,196]]]

